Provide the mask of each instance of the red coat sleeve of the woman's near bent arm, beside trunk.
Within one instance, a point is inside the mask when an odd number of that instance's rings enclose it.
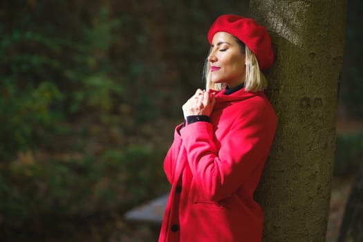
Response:
[[[248,180],[258,183],[277,121],[265,105],[250,106],[231,122],[219,149],[211,123],[195,122],[180,131],[194,184],[210,201],[220,201]]]

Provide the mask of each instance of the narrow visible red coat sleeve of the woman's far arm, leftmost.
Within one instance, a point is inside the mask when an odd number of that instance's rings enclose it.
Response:
[[[182,140],[180,138],[180,129],[183,126],[183,124],[179,124],[176,129],[174,130],[174,140],[171,144],[171,147],[167,151],[167,155],[164,159],[164,171],[167,175],[167,180],[169,183],[173,183],[174,180],[174,174],[175,174],[175,168],[176,168],[176,160],[178,158],[178,153],[180,151]]]

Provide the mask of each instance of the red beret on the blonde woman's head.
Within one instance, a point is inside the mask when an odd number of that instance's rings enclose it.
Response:
[[[239,15],[221,15],[208,31],[208,41],[212,44],[216,32],[228,32],[241,40],[256,55],[261,70],[266,70],[274,62],[270,35],[265,27],[253,19]]]

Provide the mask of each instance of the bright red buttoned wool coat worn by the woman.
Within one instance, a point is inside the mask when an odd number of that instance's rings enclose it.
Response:
[[[253,199],[277,119],[263,92],[216,93],[211,122],[176,127],[164,161],[171,192],[159,242],[261,241]]]

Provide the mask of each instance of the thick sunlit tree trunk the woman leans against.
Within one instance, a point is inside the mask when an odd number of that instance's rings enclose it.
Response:
[[[325,241],[346,0],[251,0],[275,52],[266,92],[278,127],[256,192],[263,241]],[[266,120],[268,122],[268,120]]]

